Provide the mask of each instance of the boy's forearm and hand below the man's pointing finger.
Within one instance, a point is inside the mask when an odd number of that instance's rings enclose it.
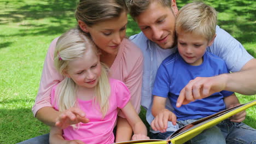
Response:
[[[171,121],[173,125],[176,125],[177,122],[176,115],[174,115],[174,113],[172,113],[171,111],[165,109],[165,105],[166,98],[154,95],[152,115],[155,118],[150,125],[153,130],[159,130],[161,133],[164,133],[166,131],[168,121]]]

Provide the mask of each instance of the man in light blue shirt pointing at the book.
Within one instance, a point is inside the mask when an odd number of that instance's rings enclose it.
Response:
[[[142,106],[147,110],[150,124],[154,117],[151,113],[152,88],[156,71],[162,60],[174,53],[176,47],[175,20],[178,8],[175,0],[133,0],[128,2],[130,15],[138,23],[141,33],[130,39],[141,48],[144,55],[144,74],[142,84]],[[205,98],[219,91],[232,91],[245,95],[256,93],[256,59],[223,29],[216,27],[217,37],[208,52],[224,59],[231,74],[213,77],[196,77],[185,86],[177,100],[177,107],[195,99]],[[170,104],[167,109],[172,110]],[[237,118],[240,119],[240,118]],[[167,130],[175,129],[172,124]],[[153,131],[158,133],[158,131]]]

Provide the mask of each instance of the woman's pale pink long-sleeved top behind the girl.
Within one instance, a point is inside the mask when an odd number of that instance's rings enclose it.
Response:
[[[50,100],[51,89],[64,79],[54,67],[54,50],[57,39],[51,42],[46,54],[38,94],[32,107],[34,116],[42,107],[52,107]],[[129,88],[131,103],[137,113],[140,111],[141,104],[142,73],[143,54],[141,50],[130,40],[124,39],[120,44],[117,57],[110,67],[110,77],[123,81]],[[121,116],[124,117],[123,115]]]

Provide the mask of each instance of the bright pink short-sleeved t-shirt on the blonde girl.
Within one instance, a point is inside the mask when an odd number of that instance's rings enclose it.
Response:
[[[69,126],[63,129],[65,140],[81,140],[85,143],[114,143],[113,129],[117,119],[119,109],[122,109],[130,100],[129,89],[119,80],[109,79],[111,94],[109,97],[109,109],[106,116],[102,119],[102,114],[94,105],[92,100],[77,99],[79,108],[86,113],[90,119],[89,123],[79,123],[78,129]],[[51,104],[58,110],[57,95],[53,87],[51,92]]]

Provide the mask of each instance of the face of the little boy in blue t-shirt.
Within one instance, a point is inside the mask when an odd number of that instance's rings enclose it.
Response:
[[[212,44],[202,35],[179,31],[177,33],[179,55],[190,65],[200,65],[203,62],[207,46]]]

